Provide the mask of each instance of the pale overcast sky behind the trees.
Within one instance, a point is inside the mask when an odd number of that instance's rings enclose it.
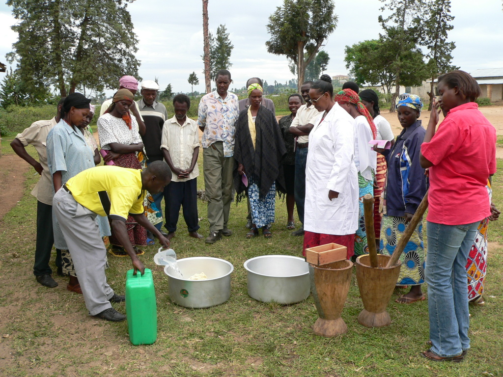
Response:
[[[337,29],[328,37],[324,50],[330,56],[325,73],[346,74],[344,48],[382,32],[377,21],[382,6],[378,0],[336,0],[339,17]],[[225,24],[234,45],[230,61],[233,87],[241,87],[247,78],[259,76],[269,84],[294,78],[284,56],[267,52],[265,42],[270,35],[266,25],[269,16],[282,0],[253,2],[209,0],[209,28],[215,33]],[[189,74],[195,71],[200,84],[194,90],[204,90],[203,28],[201,0],[166,1],[137,0],[128,6],[138,36],[137,58],[143,79],[158,77],[161,89],[171,83],[173,91],[190,91]],[[503,67],[503,11],[500,0],[453,0],[455,16],[449,40],[456,43],[453,64],[468,72],[479,68]],[[157,17],[156,17],[157,15]],[[12,49],[17,35],[10,26],[16,20],[7,5],[0,5],[0,61]]]

